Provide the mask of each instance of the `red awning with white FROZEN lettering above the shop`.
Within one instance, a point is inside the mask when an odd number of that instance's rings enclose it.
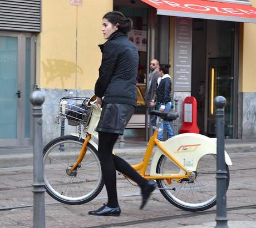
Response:
[[[205,0],[141,1],[155,7],[159,15],[256,23],[256,8],[252,7],[250,2],[245,1],[230,1],[232,3],[227,3],[227,0],[225,2]]]

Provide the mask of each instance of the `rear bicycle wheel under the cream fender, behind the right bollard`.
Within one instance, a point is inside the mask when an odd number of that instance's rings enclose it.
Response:
[[[227,168],[227,189],[229,169]],[[179,168],[162,155],[156,173],[179,173]],[[195,180],[157,180],[161,194],[171,204],[186,211],[204,211],[216,204],[216,155],[206,154],[198,162]]]

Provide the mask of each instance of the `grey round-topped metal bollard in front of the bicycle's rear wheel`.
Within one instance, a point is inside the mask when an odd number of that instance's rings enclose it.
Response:
[[[224,107],[227,100],[218,96],[214,98],[214,105],[216,107],[216,135],[217,135],[217,169],[216,169],[216,180],[217,180],[217,201],[216,201],[216,226],[215,228],[228,228],[227,218],[227,170],[225,164],[224,154]]]

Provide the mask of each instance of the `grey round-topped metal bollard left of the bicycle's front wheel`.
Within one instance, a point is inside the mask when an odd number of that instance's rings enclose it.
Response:
[[[39,90],[30,95],[33,105],[33,228],[45,228],[45,181],[43,180],[42,107],[45,101]]]

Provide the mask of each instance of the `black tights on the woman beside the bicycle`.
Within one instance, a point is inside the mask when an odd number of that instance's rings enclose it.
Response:
[[[119,134],[115,133],[99,132],[98,153],[102,176],[107,190],[107,206],[109,207],[119,206],[116,192],[116,170],[126,176],[129,176],[129,178],[134,180],[141,189],[143,189],[147,183],[147,180],[142,178],[142,176],[138,174],[124,159],[112,154],[112,150],[118,136]]]

